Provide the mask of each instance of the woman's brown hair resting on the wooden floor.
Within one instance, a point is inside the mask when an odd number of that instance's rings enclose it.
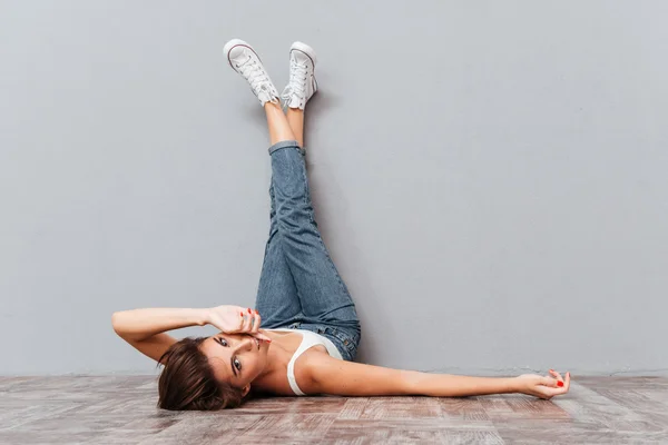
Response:
[[[158,407],[163,409],[215,411],[242,404],[240,388],[218,383],[199,345],[207,337],[186,337],[160,357],[165,369],[158,379]]]

